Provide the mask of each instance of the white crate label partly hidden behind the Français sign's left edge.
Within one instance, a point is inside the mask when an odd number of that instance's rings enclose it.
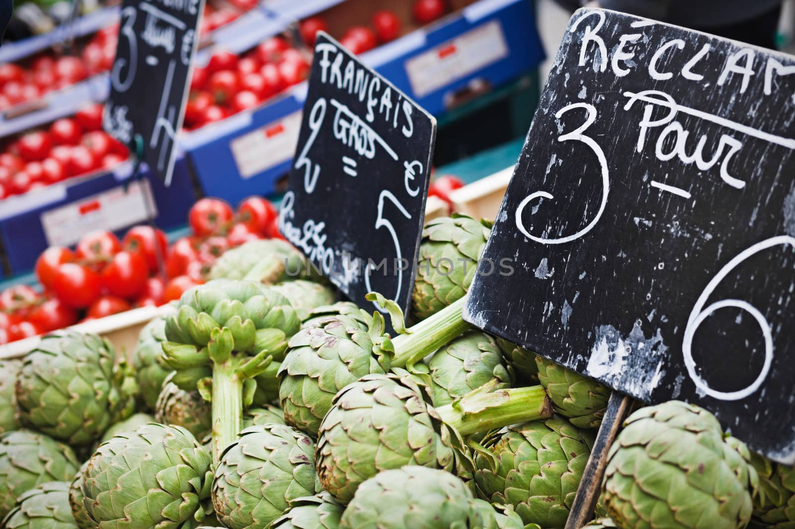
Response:
[[[301,110],[270,122],[229,142],[242,178],[251,178],[274,165],[293,159],[301,132]]]

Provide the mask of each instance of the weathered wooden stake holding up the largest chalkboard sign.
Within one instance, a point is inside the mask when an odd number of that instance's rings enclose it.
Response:
[[[577,488],[577,495],[574,498],[572,512],[568,515],[566,529],[581,529],[586,523],[591,521],[596,500],[599,499],[599,488],[602,485],[604,469],[607,466],[607,452],[613,445],[619,427],[626,417],[626,412],[630,409],[632,399],[619,392],[612,392],[610,400],[607,402],[607,411],[596,434],[596,442],[591,457],[588,458],[588,465],[585,465],[583,479],[580,487]]]

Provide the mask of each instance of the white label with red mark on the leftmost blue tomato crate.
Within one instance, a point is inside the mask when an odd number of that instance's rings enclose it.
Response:
[[[146,220],[146,203],[157,216],[148,180],[113,187],[79,202],[41,214],[47,243],[50,246],[75,244],[83,235],[95,230],[121,230]]]

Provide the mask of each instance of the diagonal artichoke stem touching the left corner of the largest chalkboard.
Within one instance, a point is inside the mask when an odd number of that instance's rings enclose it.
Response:
[[[420,361],[469,330],[470,325],[463,321],[461,313],[463,300],[456,300],[435,315],[409,327],[405,334],[395,337],[392,340],[395,356],[390,362],[391,367],[401,368]]]

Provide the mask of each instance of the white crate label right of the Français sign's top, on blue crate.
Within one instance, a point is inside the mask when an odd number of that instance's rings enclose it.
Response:
[[[506,56],[505,33],[494,20],[405,61],[405,71],[414,95],[422,98]]]

